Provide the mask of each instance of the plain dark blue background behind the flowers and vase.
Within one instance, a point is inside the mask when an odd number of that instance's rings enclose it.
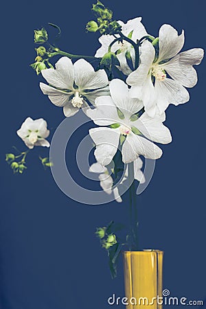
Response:
[[[42,80],[29,67],[34,62],[33,30],[58,24],[60,48],[94,54],[95,34],[84,32],[93,19],[91,0],[5,1],[1,16],[1,309],[105,309],[113,293],[124,296],[122,265],[112,280],[106,252],[95,228],[111,219],[123,221],[127,205],[88,206],[71,201],[52,174],[27,159],[28,170],[13,175],[4,161],[12,145],[25,149],[16,129],[30,116],[47,119],[51,133],[64,119],[62,109],[38,88]],[[108,1],[115,18],[143,16],[148,33],[160,25],[185,30],[184,49],[205,45],[205,1]],[[49,27],[49,26],[48,26]],[[205,249],[205,61],[197,67],[198,84],[191,100],[168,108],[172,144],[163,146],[148,189],[139,197],[141,247],[165,252],[164,288],[172,296],[206,297]],[[51,135],[52,136],[52,135]],[[48,155],[45,148],[39,149]],[[81,179],[80,179],[81,181]],[[124,306],[113,306],[124,308]]]

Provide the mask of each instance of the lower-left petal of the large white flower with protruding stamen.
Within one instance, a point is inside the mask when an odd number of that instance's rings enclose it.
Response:
[[[59,89],[55,89],[53,87],[48,86],[41,82],[39,84],[41,91],[43,94],[48,95],[49,100],[56,106],[65,106],[69,102],[69,97],[71,93],[65,93],[60,91]]]

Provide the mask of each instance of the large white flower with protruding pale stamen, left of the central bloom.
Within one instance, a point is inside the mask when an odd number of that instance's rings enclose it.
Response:
[[[41,71],[49,86],[41,82],[40,87],[54,105],[63,107],[66,117],[76,114],[81,107],[88,107],[85,98],[93,104],[99,95],[108,94],[106,72],[95,72],[86,60],[72,64],[69,58],[62,57],[55,67]]]

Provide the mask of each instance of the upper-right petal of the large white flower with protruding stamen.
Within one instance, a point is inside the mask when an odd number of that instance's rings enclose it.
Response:
[[[98,89],[108,85],[108,78],[104,70],[96,71],[93,66],[84,59],[77,60],[74,65],[74,80],[78,88]]]

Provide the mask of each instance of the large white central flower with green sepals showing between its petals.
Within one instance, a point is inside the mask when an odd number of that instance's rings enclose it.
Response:
[[[111,96],[97,98],[96,108],[87,111],[87,115],[93,119],[93,122],[102,126],[89,130],[96,145],[96,160],[102,165],[108,165],[117,152],[121,136],[125,138],[122,145],[124,163],[135,161],[139,155],[148,159],[161,157],[162,150],[152,141],[168,144],[172,140],[170,130],[162,124],[165,121],[165,115],[151,118],[143,113],[132,121],[134,116],[132,118],[131,116],[141,111],[142,103],[130,98],[128,87],[122,80],[112,80],[110,92]],[[111,125],[113,128],[105,127]]]

